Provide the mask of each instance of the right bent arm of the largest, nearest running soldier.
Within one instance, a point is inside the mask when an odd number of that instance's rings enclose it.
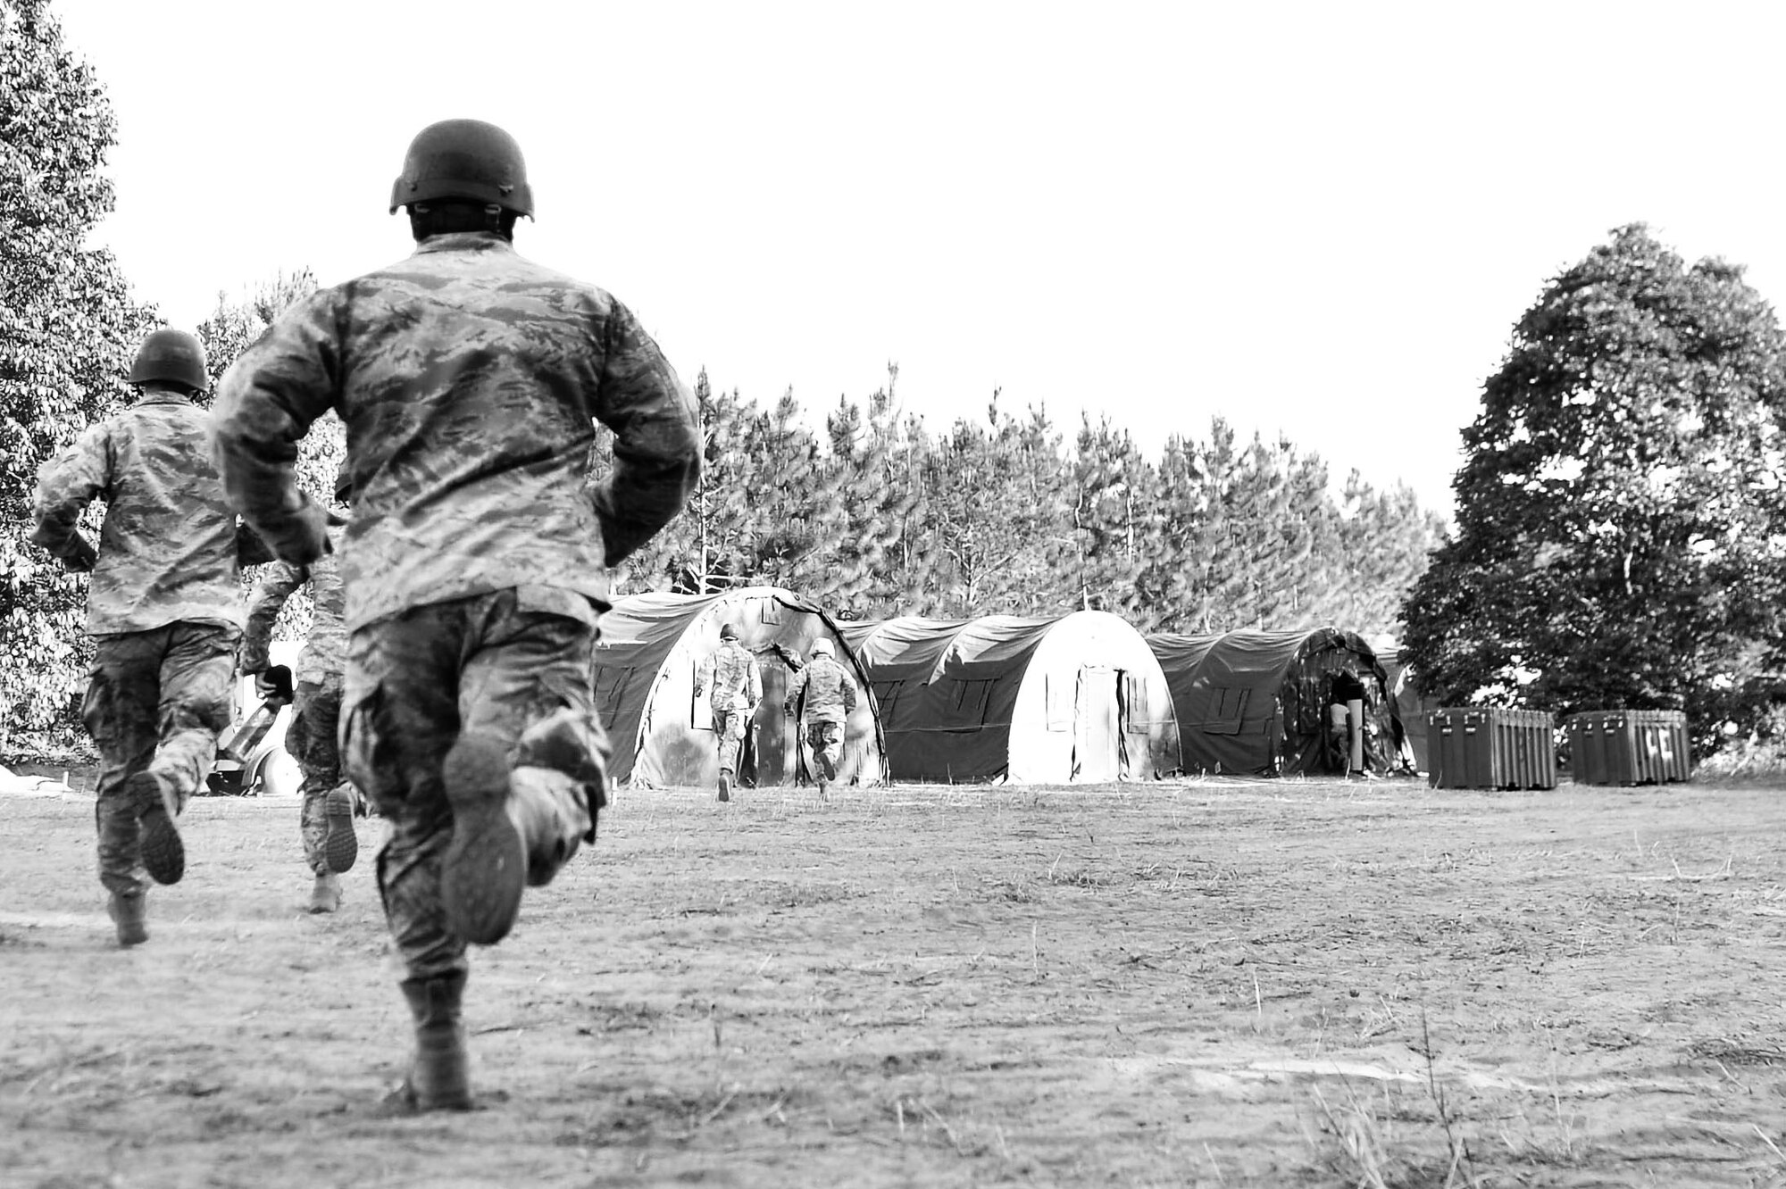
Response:
[[[614,470],[589,498],[607,564],[618,566],[688,503],[702,448],[695,395],[620,302],[607,321],[593,412],[614,430]]]

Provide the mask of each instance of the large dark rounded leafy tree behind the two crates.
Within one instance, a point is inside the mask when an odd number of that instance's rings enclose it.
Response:
[[[1427,693],[1752,725],[1779,662],[1782,336],[1643,225],[1561,273],[1465,430],[1457,536],[1404,605]]]

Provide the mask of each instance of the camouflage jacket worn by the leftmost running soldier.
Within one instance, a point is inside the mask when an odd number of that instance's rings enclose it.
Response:
[[[95,498],[105,500],[105,523],[88,582],[89,634],[241,627],[236,512],[205,452],[204,409],[152,391],[88,427],[38,470],[30,539],[77,555],[80,512]]]

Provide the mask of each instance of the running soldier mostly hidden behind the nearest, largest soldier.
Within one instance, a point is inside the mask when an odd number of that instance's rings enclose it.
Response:
[[[334,496],[345,503],[352,491],[346,468],[336,477]],[[339,552],[346,532],[345,509],[336,509],[327,537],[329,548],[309,566],[275,561],[261,575],[248,598],[248,627],[241,637],[238,669],[255,678],[268,693],[264,673],[271,666],[273,621],[305,582],[311,587],[311,630],[298,653],[296,689],[291,698],[291,725],[286,727],[286,752],[298,762],[298,834],[304,859],[316,877],[311,887],[311,912],[341,907],[341,871],[354,868],[359,839],[354,836],[354,787],[341,778],[341,752],[336,746],[341,719],[341,669],[346,664],[346,630],[341,627],[343,593]],[[339,523],[336,523],[339,521]]]

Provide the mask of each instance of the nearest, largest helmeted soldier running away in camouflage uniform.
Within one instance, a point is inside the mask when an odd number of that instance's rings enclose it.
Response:
[[[470,1109],[466,944],[595,839],[607,739],[591,686],[607,570],[688,502],[695,400],[632,312],[516,255],[514,139],[423,129],[391,193],[418,246],[286,311],[220,384],[230,500],[289,562],[327,548],[296,439],[346,425],[348,777],[391,825],[379,891],[416,1052],[393,1105]],[[614,468],[586,486],[595,421]]]

